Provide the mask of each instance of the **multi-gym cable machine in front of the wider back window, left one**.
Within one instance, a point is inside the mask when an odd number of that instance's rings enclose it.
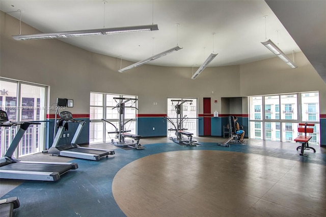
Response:
[[[124,98],[124,97],[114,97],[113,99],[120,100],[120,102],[117,104],[117,106],[114,107],[114,108],[118,109],[118,113],[119,113],[119,128],[116,127],[116,125],[114,125],[110,121],[102,119],[103,122],[109,123],[115,128],[115,131],[107,132],[108,134],[110,134],[110,133],[116,134],[115,139],[118,139],[118,141],[114,141],[114,139],[112,139],[111,140],[112,144],[115,146],[118,146],[118,147],[123,147],[123,148],[129,147],[129,148],[133,148],[133,149],[144,149],[145,147],[139,143],[142,136],[128,133],[128,132],[131,132],[131,130],[127,130],[125,128],[126,124],[129,121],[132,121],[132,119],[129,119],[128,121],[125,122],[125,116],[124,116],[125,108],[132,107],[132,108],[137,109],[136,107],[133,107],[133,106],[126,106],[125,103],[129,102],[129,101],[137,101],[138,99],[137,98]],[[114,109],[114,108],[112,108],[112,109]],[[132,140],[126,140],[126,138],[130,138]]]

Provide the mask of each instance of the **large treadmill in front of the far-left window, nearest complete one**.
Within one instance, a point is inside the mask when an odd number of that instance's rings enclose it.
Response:
[[[57,181],[69,170],[75,170],[78,165],[73,162],[39,162],[20,161],[12,155],[17,149],[26,129],[36,122],[12,122],[8,120],[7,113],[0,110],[0,126],[19,126],[12,143],[10,144],[4,157],[0,158],[0,178],[2,179],[22,179],[39,181]]]

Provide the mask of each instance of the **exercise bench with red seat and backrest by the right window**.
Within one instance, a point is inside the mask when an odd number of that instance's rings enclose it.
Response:
[[[309,140],[312,137],[310,135],[307,136],[307,133],[314,132],[314,128],[310,128],[307,126],[315,126],[315,124],[299,123],[299,127],[297,128],[297,131],[303,132],[303,133],[305,133],[305,135],[299,135],[297,138],[294,139],[295,142],[301,143],[301,146],[296,147],[296,150],[301,149],[300,155],[303,155],[303,156],[308,156],[307,154],[304,154],[304,150],[306,150],[306,149],[311,149],[314,151],[314,153],[316,152],[316,149],[314,149],[313,147],[310,147],[308,144]]]

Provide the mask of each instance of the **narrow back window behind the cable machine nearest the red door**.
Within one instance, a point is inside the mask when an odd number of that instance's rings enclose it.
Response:
[[[193,100],[192,102],[185,102],[182,104],[181,117],[185,116],[185,120],[182,123],[182,128],[186,129],[188,132],[194,133],[194,136],[198,136],[197,130],[197,99],[196,98],[168,98],[168,117],[171,118],[173,122],[177,120],[177,113],[175,105],[178,103],[171,100]],[[171,123],[168,122],[168,136],[174,137],[175,131],[169,129],[174,128]]]

